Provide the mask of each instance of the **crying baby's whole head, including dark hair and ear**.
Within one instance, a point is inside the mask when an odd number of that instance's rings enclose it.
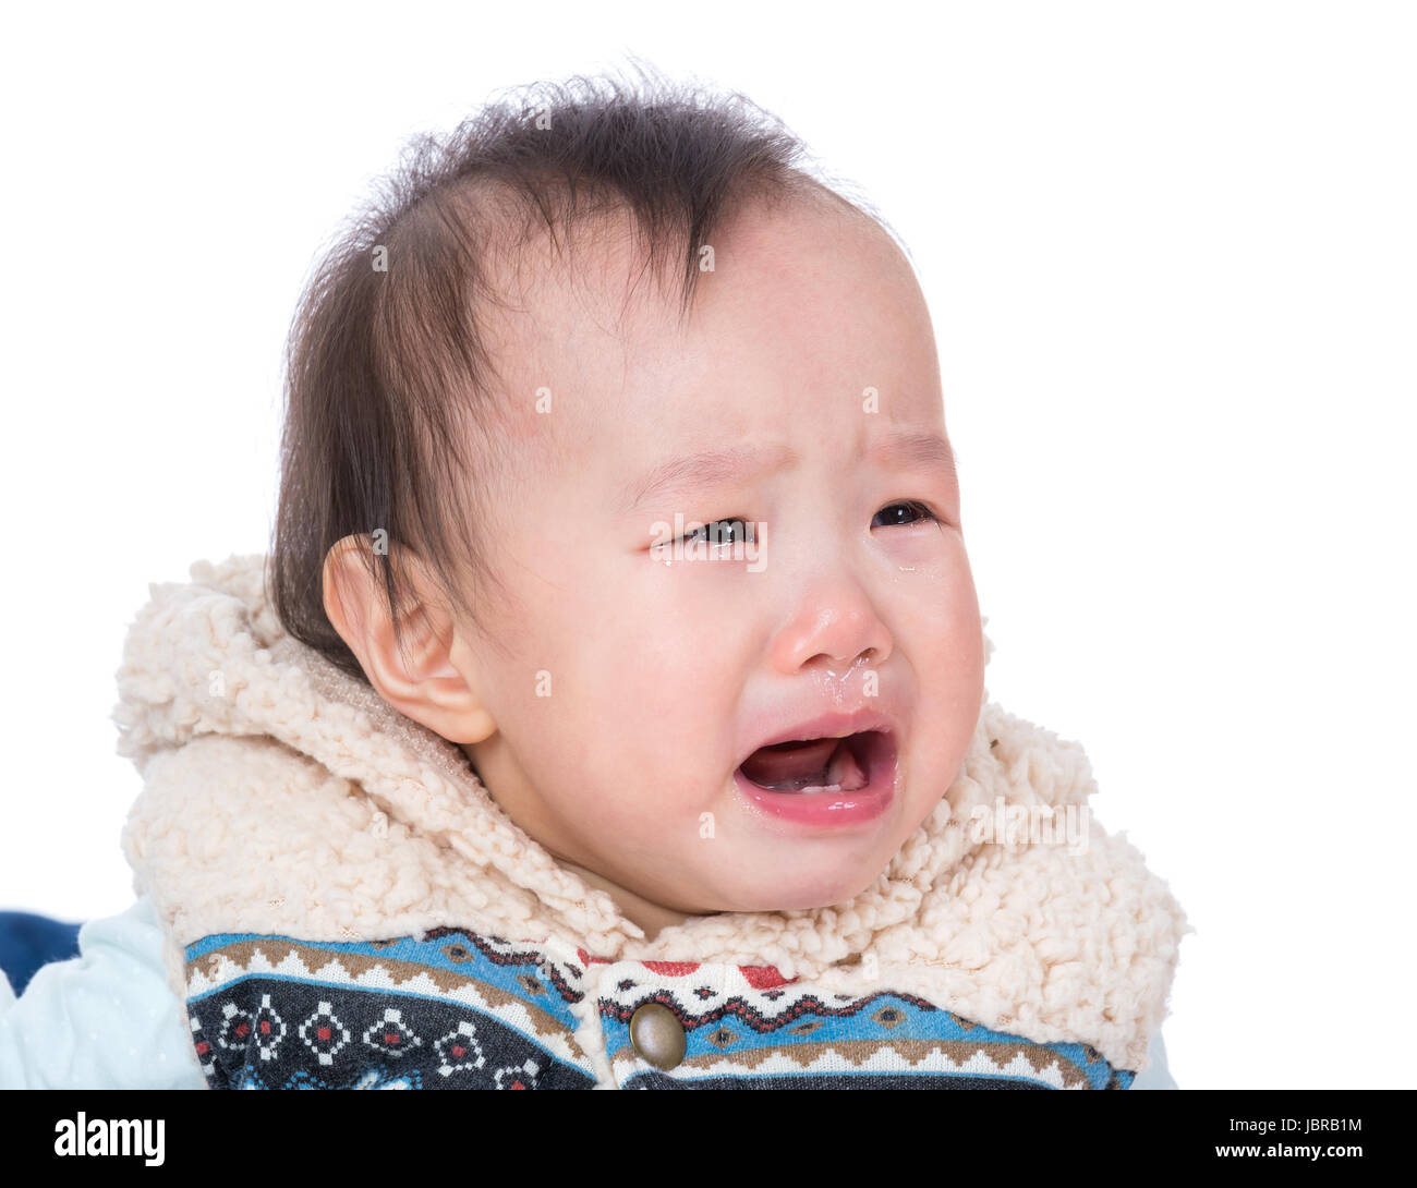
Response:
[[[273,547],[286,628],[650,933],[867,889],[983,693],[910,264],[751,103],[656,86],[405,160],[299,310]]]

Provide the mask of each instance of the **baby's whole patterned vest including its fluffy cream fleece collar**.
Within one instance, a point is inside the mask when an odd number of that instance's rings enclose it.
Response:
[[[1087,812],[1083,846],[979,839],[981,814],[1095,787],[988,693],[869,890],[646,938],[458,747],[289,638],[264,570],[154,585],[119,671],[145,777],[123,846],[208,1086],[1127,1089],[1146,1066],[1190,927]]]

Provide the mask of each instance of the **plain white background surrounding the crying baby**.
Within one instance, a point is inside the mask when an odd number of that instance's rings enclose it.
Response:
[[[1197,930],[1176,1080],[1410,1079],[1413,6],[65,6],[3,40],[0,906],[132,900],[123,634],[268,547],[320,245],[410,136],[633,52],[910,244],[990,695],[1085,744]]]

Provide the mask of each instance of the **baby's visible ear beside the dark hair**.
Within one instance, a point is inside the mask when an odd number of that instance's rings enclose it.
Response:
[[[346,536],[324,557],[324,614],[359,659],[378,695],[400,713],[442,734],[449,743],[480,743],[496,723],[473,686],[472,651],[434,597],[434,585],[415,553],[400,561],[414,584],[394,638],[384,585],[371,573],[367,536]]]

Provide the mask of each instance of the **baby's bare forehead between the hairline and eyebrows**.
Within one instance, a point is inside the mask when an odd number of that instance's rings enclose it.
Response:
[[[564,454],[615,435],[772,432],[833,400],[859,413],[867,388],[897,397],[886,420],[907,401],[914,420],[939,408],[924,298],[866,215],[818,197],[755,204],[696,247],[711,271],[687,316],[683,247],[655,271],[628,214],[564,250],[541,235],[503,269],[485,329],[517,437]],[[548,414],[534,411],[537,394]]]

